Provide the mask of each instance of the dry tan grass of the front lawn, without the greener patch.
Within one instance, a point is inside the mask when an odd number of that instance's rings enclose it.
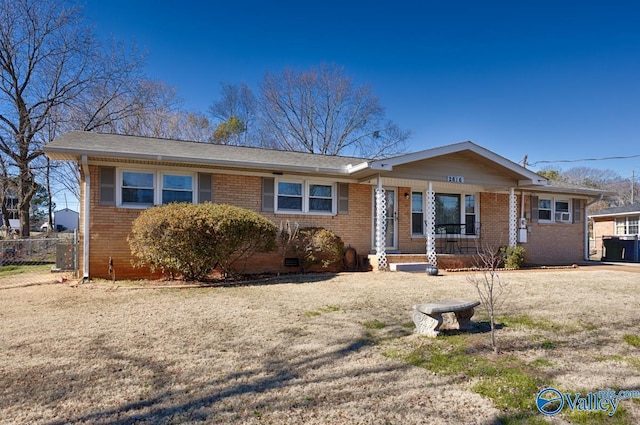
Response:
[[[550,379],[567,390],[640,388],[640,349],[623,341],[640,335],[640,273],[623,270],[503,273],[510,293],[499,315],[535,325],[500,329],[501,355],[552,363]],[[407,326],[412,305],[476,298],[466,277],[4,289],[0,422],[492,423],[500,412],[469,379],[383,355],[429,344]],[[488,334],[474,338],[490,350]],[[552,350],[541,348],[545,339]],[[622,404],[640,420],[638,403]]]

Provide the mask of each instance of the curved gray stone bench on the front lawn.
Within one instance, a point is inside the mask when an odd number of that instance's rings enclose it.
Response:
[[[442,326],[442,315],[453,313],[449,326],[453,329],[469,330],[473,309],[480,305],[479,301],[443,300],[433,303],[416,304],[413,306],[413,323],[416,324],[415,332],[421,335],[438,336]]]

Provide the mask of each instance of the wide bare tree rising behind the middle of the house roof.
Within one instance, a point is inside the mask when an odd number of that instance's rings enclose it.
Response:
[[[404,151],[410,135],[335,65],[266,74],[259,109],[263,143],[282,150],[379,158]]]

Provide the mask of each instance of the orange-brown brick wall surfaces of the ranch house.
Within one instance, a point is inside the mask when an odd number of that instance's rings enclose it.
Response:
[[[146,269],[131,266],[131,254],[127,236],[133,220],[142,210],[124,209],[98,205],[98,167],[90,166],[91,172],[91,215],[90,215],[90,277],[109,278],[109,258],[112,258],[117,278],[157,277]],[[213,175],[213,201],[228,203],[260,212],[277,226],[287,220],[300,227],[316,226],[333,230],[342,238],[345,246],[355,248],[359,255],[366,255],[372,248],[372,196],[369,185],[349,185],[349,214],[335,216],[274,214],[262,212],[262,178],[241,175]],[[403,253],[424,253],[423,237],[411,237],[411,199],[404,193],[411,193],[408,187],[399,187],[398,206],[398,247]],[[529,211],[529,198],[525,198],[525,212]],[[82,199],[81,199],[82,202]],[[518,197],[518,215],[520,198]],[[509,196],[499,193],[480,194],[481,239],[478,245],[507,245],[509,241]],[[82,209],[81,209],[82,210]],[[81,237],[84,235],[84,214],[81,212]],[[531,231],[526,249],[526,261],[539,264],[572,263],[583,258],[583,223],[540,224],[529,221]],[[559,243],[562,241],[562,243]],[[82,247],[82,243],[81,243]],[[82,249],[81,249],[82,251]],[[82,252],[80,260],[82,262]],[[256,255],[251,258],[251,271],[277,271],[282,263],[280,254]],[[83,265],[81,264],[81,268]]]

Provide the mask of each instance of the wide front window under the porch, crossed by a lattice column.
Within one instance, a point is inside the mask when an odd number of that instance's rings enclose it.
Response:
[[[478,196],[465,193],[436,193],[436,233],[477,235]],[[424,234],[425,196],[422,192],[411,193],[411,233]]]

